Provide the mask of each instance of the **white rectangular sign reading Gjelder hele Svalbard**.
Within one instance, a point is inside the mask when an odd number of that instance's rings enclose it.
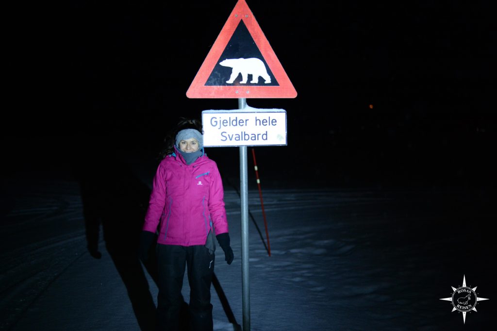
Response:
[[[286,110],[203,110],[205,147],[286,146]]]

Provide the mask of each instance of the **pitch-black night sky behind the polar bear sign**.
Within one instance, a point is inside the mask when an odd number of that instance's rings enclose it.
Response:
[[[489,1],[247,3],[298,92],[247,100],[287,111],[288,146],[257,148],[274,178],[495,182]],[[235,4],[69,1],[21,15],[11,47],[19,110],[4,115],[13,129],[7,150],[22,162],[103,135],[153,153],[179,116],[237,108],[236,99],[185,95]],[[209,153],[238,165],[237,148]]]

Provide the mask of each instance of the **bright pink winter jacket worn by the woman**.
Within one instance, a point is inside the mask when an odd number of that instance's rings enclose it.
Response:
[[[209,230],[228,232],[221,175],[203,154],[186,165],[180,153],[166,156],[154,177],[143,230],[155,233],[159,244],[205,245]]]

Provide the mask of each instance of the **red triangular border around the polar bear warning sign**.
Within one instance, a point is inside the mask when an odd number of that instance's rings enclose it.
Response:
[[[247,26],[250,36],[279,86],[205,85],[241,20]],[[233,8],[230,17],[224,24],[197,75],[186,91],[186,96],[188,98],[295,98],[297,96],[297,91],[290,82],[276,54],[274,54],[271,45],[269,45],[245,0],[238,0],[235,8]]]

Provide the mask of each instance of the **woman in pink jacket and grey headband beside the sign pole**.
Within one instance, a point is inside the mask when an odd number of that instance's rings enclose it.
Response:
[[[210,287],[214,273],[214,234],[233,261],[224,190],[217,165],[205,154],[199,121],[178,124],[174,146],[158,166],[145,216],[140,249],[146,260],[159,227],[157,259],[158,330],[178,330],[185,266],[190,285],[190,330],[212,331]],[[197,127],[197,130],[193,127]],[[181,129],[183,128],[183,129]]]

